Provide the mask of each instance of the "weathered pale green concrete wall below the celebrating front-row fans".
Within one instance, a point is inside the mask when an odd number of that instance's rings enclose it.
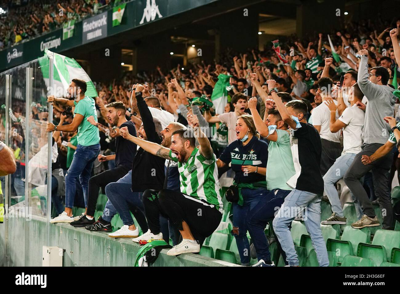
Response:
[[[29,226],[29,242],[25,242],[25,225]],[[5,264],[5,224],[0,224],[0,266],[42,266],[46,223],[34,219],[25,221],[23,218],[9,218],[8,228],[8,261]],[[106,233],[89,232],[62,223],[50,224],[50,246],[65,249],[63,266],[133,266],[140,248],[130,238],[114,239]],[[175,257],[168,256],[166,252],[166,249],[160,252],[154,266],[237,266],[198,254]]]

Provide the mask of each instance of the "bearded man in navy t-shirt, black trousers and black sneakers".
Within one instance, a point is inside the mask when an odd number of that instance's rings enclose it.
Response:
[[[120,101],[112,102],[106,105],[107,118],[112,126],[118,126],[118,128],[126,127],[130,134],[136,136],[135,125],[132,121],[128,121],[125,118],[126,108],[124,103]],[[94,224],[94,212],[96,211],[96,202],[99,195],[100,187],[105,187],[107,184],[118,181],[120,178],[125,176],[133,162],[133,158],[136,154],[136,144],[124,140],[119,134],[119,129],[114,130],[112,127],[106,127],[96,122],[93,116],[88,118],[88,122],[92,125],[97,126],[99,130],[104,132],[115,139],[115,154],[104,156],[98,155],[98,160],[104,162],[107,160],[115,160],[115,168],[106,170],[96,176],[93,176],[89,180],[89,196],[88,196],[88,209],[85,215],[74,222],[71,222],[71,226],[84,227]],[[99,217],[101,218],[101,216]]]

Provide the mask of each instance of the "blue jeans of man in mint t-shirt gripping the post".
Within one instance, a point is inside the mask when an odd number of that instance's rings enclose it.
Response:
[[[65,175],[65,207],[74,207],[76,182],[80,181],[83,189],[85,207],[87,207],[89,194],[89,179],[92,173],[93,162],[100,152],[100,144],[91,146],[76,146],[71,166]]]

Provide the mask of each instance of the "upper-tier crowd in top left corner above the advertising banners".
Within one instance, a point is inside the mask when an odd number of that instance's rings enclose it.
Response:
[[[97,14],[124,0],[2,0],[0,7],[0,49],[42,33],[61,28],[69,20],[80,20]]]

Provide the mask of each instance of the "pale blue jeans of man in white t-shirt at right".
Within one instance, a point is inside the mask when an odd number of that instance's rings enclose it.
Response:
[[[344,177],[344,174],[346,174],[347,170],[350,168],[356,155],[357,154],[354,153],[345,153],[342,156],[338,157],[335,163],[330,167],[330,169],[326,172],[324,176],[324,189],[332,206],[332,212],[336,212],[336,214],[340,217],[344,217],[344,214],[342,210],[342,204],[340,204],[338,190],[336,190],[335,184],[336,182],[338,182],[338,180]],[[360,203],[354,197],[351,191],[350,195],[353,199],[354,206],[356,207],[357,218],[361,219],[362,209]]]

